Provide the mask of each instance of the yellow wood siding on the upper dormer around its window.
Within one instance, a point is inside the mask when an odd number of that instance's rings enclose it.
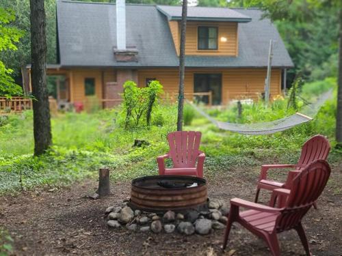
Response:
[[[170,31],[179,55],[180,31],[179,21],[169,22]],[[218,27],[218,50],[198,50],[198,27]],[[221,38],[226,38],[226,42],[221,42]],[[231,22],[187,22],[187,35],[185,44],[186,55],[238,55],[237,23]]]

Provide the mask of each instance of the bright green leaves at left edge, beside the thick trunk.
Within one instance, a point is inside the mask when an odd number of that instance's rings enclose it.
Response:
[[[19,41],[23,31],[10,26],[14,20],[13,10],[0,8],[0,52],[17,49],[15,43]],[[14,83],[12,72],[12,69],[6,68],[5,64],[0,61],[0,96],[2,97],[11,98],[11,96],[21,95],[22,89]]]

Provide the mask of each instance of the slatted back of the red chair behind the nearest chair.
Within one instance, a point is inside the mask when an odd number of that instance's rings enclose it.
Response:
[[[302,170],[306,165],[310,164],[315,160],[326,160],[330,152],[330,144],[328,139],[322,135],[315,135],[302,147],[302,154],[296,167],[297,170]]]

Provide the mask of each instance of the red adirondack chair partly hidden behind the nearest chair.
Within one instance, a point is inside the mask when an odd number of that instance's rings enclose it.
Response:
[[[322,159],[326,160],[328,158],[328,154],[330,152],[330,144],[328,139],[322,135],[315,135],[306,143],[304,143],[302,147],[302,154],[300,155],[300,160],[297,165],[263,165],[261,167],[261,174],[259,177],[259,182],[257,185],[257,194],[255,195],[254,202],[258,202],[259,193],[261,188],[266,190],[274,190],[276,188],[291,188],[293,177],[298,174],[298,171],[302,171],[306,165],[311,162]],[[287,181],[285,183],[276,182],[273,180],[267,180],[267,171],[269,169],[278,169],[278,168],[293,168],[295,171],[290,171],[287,176]],[[279,207],[282,207],[284,204],[283,199],[279,199]],[[316,204],[314,205],[315,208]]]

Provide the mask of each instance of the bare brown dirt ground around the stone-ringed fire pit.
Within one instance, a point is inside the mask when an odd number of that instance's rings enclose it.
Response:
[[[332,167],[330,182],[317,203],[319,210],[311,209],[303,221],[313,255],[342,255],[341,167]],[[209,197],[226,203],[233,197],[252,200],[257,176],[243,178],[242,171],[237,170],[233,180],[225,173],[209,179]],[[0,197],[0,226],[14,238],[14,255],[270,255],[262,240],[237,224],[224,252],[223,231],[182,236],[108,229],[105,209],[129,197],[130,183],[113,184],[109,197],[94,201],[86,195],[95,188],[96,181],[88,180],[69,188]],[[266,201],[266,195],[261,201]],[[295,231],[278,238],[282,255],[304,255]]]

